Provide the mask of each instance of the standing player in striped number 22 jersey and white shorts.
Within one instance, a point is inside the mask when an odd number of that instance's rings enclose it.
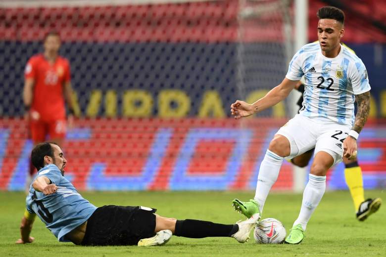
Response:
[[[253,104],[237,100],[231,105],[236,119],[250,116],[284,100],[305,77],[300,113],[284,125],[271,141],[261,163],[253,200],[233,201],[248,218],[260,216],[284,157],[292,159],[315,148],[308,183],[298,218],[285,242],[299,244],[307,223],[326,190],[326,173],[342,157],[356,154],[356,140],[370,110],[370,85],[363,62],[340,44],[344,13],[326,6],[318,10],[318,43],[304,45],[292,58],[283,82]],[[354,116],[354,101],[358,111]]]

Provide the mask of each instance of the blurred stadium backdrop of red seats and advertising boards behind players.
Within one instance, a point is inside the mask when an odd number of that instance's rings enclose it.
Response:
[[[256,99],[285,76],[297,50],[293,1],[39,2],[0,5],[0,190],[24,189],[32,143],[22,120],[23,70],[53,29],[76,92],[78,119],[63,149],[66,176],[78,189],[254,189],[268,143],[291,117],[293,102],[242,122],[230,118],[229,106]],[[343,42],[368,70],[372,112],[359,163],[365,188],[382,188],[386,3],[310,0],[309,42],[316,40],[317,9],[332,2],[346,13]],[[266,6],[281,8],[253,15]],[[292,190],[294,178],[285,163],[274,189]],[[327,186],[346,188],[342,164],[331,169]]]

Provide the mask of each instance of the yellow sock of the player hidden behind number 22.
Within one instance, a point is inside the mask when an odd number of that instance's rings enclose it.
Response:
[[[354,201],[355,212],[358,211],[360,204],[365,201],[365,193],[363,191],[363,178],[361,167],[352,167],[344,169],[344,178],[352,200]]]

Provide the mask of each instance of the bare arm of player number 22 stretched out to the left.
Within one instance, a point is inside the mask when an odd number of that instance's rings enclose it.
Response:
[[[231,113],[235,119],[240,119],[261,112],[283,101],[297,83],[298,81],[291,81],[285,78],[280,85],[272,88],[263,98],[260,98],[252,104],[237,100],[231,104]]]

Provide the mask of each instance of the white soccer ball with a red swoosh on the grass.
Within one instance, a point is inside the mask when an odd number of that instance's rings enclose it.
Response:
[[[286,238],[286,228],[276,218],[265,218],[259,221],[253,236],[257,244],[281,244]]]

